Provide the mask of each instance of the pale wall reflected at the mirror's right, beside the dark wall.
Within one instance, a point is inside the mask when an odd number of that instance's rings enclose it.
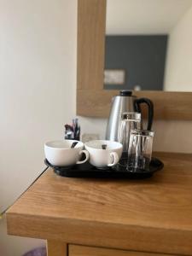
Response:
[[[170,32],[165,90],[191,91],[192,88],[192,7]]]

